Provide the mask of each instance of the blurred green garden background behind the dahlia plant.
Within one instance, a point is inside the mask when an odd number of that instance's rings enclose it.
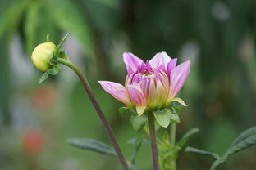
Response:
[[[116,158],[79,150],[69,137],[109,144],[79,79],[61,73],[37,84],[41,72],[30,54],[50,34],[89,78],[127,158],[139,136],[121,117],[98,80],[124,83],[122,53],[149,60],[167,51],[192,61],[182,98],[178,137],[196,127],[188,145],[222,153],[246,128],[256,125],[255,0],[0,0],[0,169],[121,169]],[[225,170],[254,170],[256,148],[233,156]],[[209,169],[212,159],[181,151],[178,168]],[[136,163],[151,169],[150,146]]]

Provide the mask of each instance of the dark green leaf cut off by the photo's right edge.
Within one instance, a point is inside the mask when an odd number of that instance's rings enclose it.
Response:
[[[231,146],[226,150],[224,157],[227,158],[231,154],[235,154],[240,150],[245,150],[251,145],[256,144],[256,127],[249,128],[242,132],[235,141],[232,142]]]

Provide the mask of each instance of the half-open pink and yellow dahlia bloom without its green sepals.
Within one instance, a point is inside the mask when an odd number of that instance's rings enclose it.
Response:
[[[120,83],[99,81],[103,89],[139,115],[145,110],[160,110],[177,101],[176,95],[190,74],[190,60],[176,66],[166,52],[157,53],[145,63],[132,53],[124,53],[127,76],[125,86]]]

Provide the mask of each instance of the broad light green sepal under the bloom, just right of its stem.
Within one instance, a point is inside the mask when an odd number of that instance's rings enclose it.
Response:
[[[171,110],[157,110],[153,111],[153,115],[157,120],[157,123],[163,128],[167,128],[170,124]]]

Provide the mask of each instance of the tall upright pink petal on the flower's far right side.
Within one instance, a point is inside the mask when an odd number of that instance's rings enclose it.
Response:
[[[170,97],[176,96],[178,92],[180,92],[181,87],[183,87],[185,80],[188,78],[190,74],[190,60],[185,61],[181,65],[176,66],[176,68],[172,69],[171,71],[171,78],[170,78]]]

